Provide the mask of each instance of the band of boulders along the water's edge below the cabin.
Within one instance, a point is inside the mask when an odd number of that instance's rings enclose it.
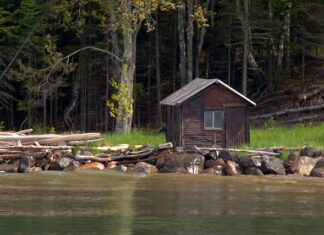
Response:
[[[64,148],[63,148],[64,149]],[[275,152],[275,150],[272,150]],[[93,155],[86,150],[51,149],[47,154],[28,155],[19,159],[0,159],[0,172],[30,173],[44,170],[117,170],[136,173],[188,173],[237,175],[298,175],[324,177],[322,152],[311,147],[291,151],[287,160],[278,156],[238,155],[226,150],[183,150],[164,144],[157,148],[142,146],[132,151],[117,148],[113,153]]]

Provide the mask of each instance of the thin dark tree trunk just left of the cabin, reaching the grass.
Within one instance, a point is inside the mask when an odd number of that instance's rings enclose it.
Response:
[[[155,67],[156,67],[156,108],[157,108],[157,123],[156,127],[162,127],[162,110],[161,110],[161,72],[160,72],[160,52],[159,52],[159,12],[156,13],[155,26]]]

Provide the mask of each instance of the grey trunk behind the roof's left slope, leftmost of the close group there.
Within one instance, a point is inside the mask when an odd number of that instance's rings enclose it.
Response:
[[[179,31],[179,52],[180,52],[180,78],[181,87],[187,83],[187,69],[186,69],[186,42],[185,42],[185,10],[178,9],[178,31]]]

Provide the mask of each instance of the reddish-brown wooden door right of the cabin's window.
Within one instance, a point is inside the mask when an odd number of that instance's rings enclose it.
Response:
[[[245,107],[225,107],[226,147],[245,143]]]

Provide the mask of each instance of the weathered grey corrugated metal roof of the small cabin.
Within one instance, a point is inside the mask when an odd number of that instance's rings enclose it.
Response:
[[[169,106],[177,106],[182,104],[184,101],[189,99],[190,97],[196,95],[200,91],[204,90],[205,88],[211,86],[212,84],[217,83],[227,89],[229,89],[234,94],[240,96],[242,99],[246,100],[251,105],[255,106],[256,104],[242,95],[240,92],[234,90],[232,87],[228,86],[224,82],[222,82],[219,79],[202,79],[202,78],[196,78],[193,81],[189,82],[184,87],[180,88],[179,90],[175,91],[168,97],[166,97],[164,100],[161,101],[161,104],[163,105],[169,105]]]

